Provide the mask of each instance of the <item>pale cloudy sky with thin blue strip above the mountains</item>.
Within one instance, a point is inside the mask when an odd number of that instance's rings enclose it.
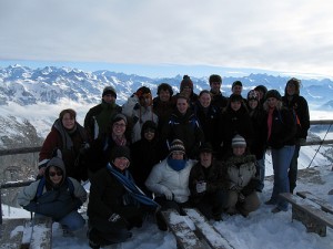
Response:
[[[0,0],[0,66],[332,79],[332,9],[330,0]]]

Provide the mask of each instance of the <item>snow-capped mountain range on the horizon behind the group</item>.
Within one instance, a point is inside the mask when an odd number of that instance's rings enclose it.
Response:
[[[191,75],[189,75],[191,76]],[[223,75],[221,75],[223,77]],[[194,92],[209,89],[209,75],[191,77]],[[222,91],[224,95],[231,94],[231,84],[234,81],[243,83],[244,94],[259,84],[268,89],[276,89],[284,93],[285,83],[290,77],[268,74],[250,74],[248,76],[223,77]],[[157,86],[167,82],[179,92],[182,75],[174,77],[151,79],[135,74],[115,73],[112,71],[84,72],[78,69],[46,66],[30,69],[21,65],[0,68],[0,106],[9,103],[32,105],[39,103],[57,104],[61,100],[71,100],[78,103],[93,104],[101,100],[104,86],[112,85],[118,92],[118,102],[122,104],[133,92],[142,85],[157,93]],[[302,79],[301,79],[302,80]],[[333,82],[325,80],[302,80],[301,95],[303,95],[311,110],[333,110]]]

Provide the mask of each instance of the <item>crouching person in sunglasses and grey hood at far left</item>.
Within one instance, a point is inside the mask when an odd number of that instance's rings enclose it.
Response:
[[[34,212],[34,218],[51,217],[64,231],[75,231],[84,226],[78,209],[85,200],[87,191],[82,185],[67,177],[60,149],[47,164],[43,177],[24,187],[18,196],[19,205]]]

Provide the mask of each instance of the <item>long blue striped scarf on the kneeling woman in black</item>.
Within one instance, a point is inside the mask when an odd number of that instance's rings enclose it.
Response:
[[[129,170],[125,170],[125,174],[123,175],[119,170],[113,168],[110,163],[108,163],[107,168],[133,199],[138,200],[140,204],[160,208],[160,205],[158,203],[145,196],[144,193],[134,184],[133,177]]]

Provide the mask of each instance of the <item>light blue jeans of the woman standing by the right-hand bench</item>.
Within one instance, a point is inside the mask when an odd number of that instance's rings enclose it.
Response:
[[[272,149],[272,162],[274,169],[274,186],[271,199],[276,203],[281,210],[287,210],[287,201],[281,199],[279,194],[290,193],[287,172],[293,157],[295,146],[284,146]]]

